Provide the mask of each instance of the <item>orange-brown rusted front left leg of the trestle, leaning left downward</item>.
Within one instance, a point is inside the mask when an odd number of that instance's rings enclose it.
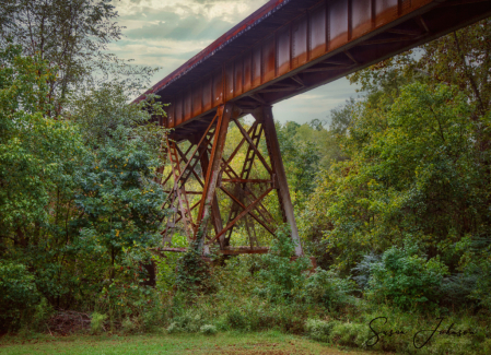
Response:
[[[226,131],[232,116],[232,104],[220,105],[218,108],[218,122],[213,139],[213,147],[210,154],[210,164],[204,178],[204,187],[201,202],[199,204],[196,239],[198,251],[202,251],[204,237],[207,235],[208,221],[211,215],[211,205],[215,197],[217,181],[220,175],[222,153],[225,146]]]

